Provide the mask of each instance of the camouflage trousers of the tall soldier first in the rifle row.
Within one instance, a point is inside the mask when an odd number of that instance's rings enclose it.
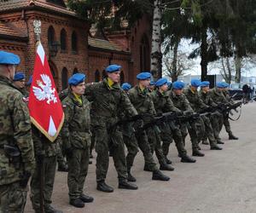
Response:
[[[108,173],[109,155],[111,149],[114,167],[118,172],[119,181],[127,179],[125,160],[125,145],[122,133],[119,130],[109,130],[106,126],[93,128],[96,141],[96,181],[104,181]]]

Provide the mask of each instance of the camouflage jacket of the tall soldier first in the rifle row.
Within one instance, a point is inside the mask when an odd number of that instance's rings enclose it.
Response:
[[[119,112],[125,116],[137,115],[136,109],[131,105],[131,101],[120,88],[119,83],[108,87],[107,79],[99,83],[86,85],[84,95],[91,104],[91,124],[92,126],[113,126],[118,121]]]

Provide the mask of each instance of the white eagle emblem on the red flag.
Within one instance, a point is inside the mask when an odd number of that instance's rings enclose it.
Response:
[[[55,88],[51,88],[51,81],[48,75],[41,74],[40,75],[42,81],[37,81],[37,84],[40,88],[33,86],[33,93],[38,99],[38,101],[44,101],[47,100],[46,102],[49,104],[50,101],[53,101],[54,103],[57,102],[57,98],[55,97]]]

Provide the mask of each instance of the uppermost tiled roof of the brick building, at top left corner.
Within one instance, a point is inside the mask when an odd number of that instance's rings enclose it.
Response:
[[[61,6],[61,3],[54,2],[55,1],[49,0],[0,0],[0,11],[4,12],[15,9],[39,7],[42,9],[49,9],[61,14],[75,15],[73,11]]]

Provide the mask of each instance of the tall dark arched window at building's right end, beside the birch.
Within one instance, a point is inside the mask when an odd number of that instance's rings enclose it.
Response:
[[[150,52],[146,35],[143,36],[140,43],[140,68],[141,72],[150,70]]]

